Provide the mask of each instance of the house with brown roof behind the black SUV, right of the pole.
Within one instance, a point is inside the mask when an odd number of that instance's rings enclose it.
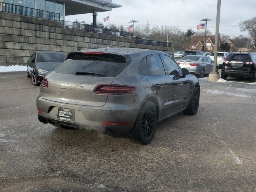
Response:
[[[248,52],[251,49],[249,39],[227,39],[224,43],[230,45],[230,51]]]

